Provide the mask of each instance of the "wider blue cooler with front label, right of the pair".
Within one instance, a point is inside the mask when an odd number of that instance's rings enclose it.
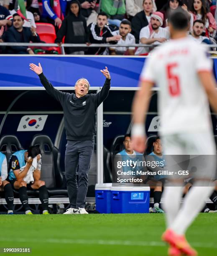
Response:
[[[150,187],[112,187],[112,213],[148,213]]]

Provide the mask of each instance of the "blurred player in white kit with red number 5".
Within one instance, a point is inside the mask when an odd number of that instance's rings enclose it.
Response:
[[[212,156],[213,161],[216,150],[209,103],[217,113],[216,82],[205,46],[187,37],[188,27],[186,13],[176,10],[171,14],[172,40],[155,49],[143,68],[141,90],[133,102],[131,134],[135,150],[143,152],[146,143],[144,113],[148,111],[151,87],[157,84],[160,87],[158,107],[165,155],[207,155]],[[207,178],[196,180],[181,208],[183,180],[171,177],[171,183],[165,187],[167,230],[162,239],[170,245],[169,255],[197,255],[184,234],[213,191],[210,177],[214,173],[214,162],[208,162],[212,168],[207,166],[202,172]]]

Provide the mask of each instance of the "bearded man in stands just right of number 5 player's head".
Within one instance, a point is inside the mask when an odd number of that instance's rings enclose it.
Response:
[[[207,36],[202,36],[204,32],[204,22],[203,20],[194,20],[193,29],[191,35],[189,35],[194,41],[199,43],[211,44],[211,41]]]

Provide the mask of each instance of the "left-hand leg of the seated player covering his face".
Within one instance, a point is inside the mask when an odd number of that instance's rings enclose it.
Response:
[[[27,185],[26,182],[23,180],[21,180],[21,181],[15,180],[15,182],[13,183],[13,187],[15,189],[18,189],[18,191],[19,191],[20,201],[23,205],[25,213],[30,215],[33,213],[31,212],[30,207],[28,205],[28,195],[27,195],[26,185]]]

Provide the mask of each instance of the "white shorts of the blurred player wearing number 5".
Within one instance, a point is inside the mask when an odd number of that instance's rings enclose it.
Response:
[[[171,134],[161,137],[167,169],[174,172],[171,179],[213,180],[216,178],[216,146],[211,131]],[[180,175],[183,174],[183,175]]]

